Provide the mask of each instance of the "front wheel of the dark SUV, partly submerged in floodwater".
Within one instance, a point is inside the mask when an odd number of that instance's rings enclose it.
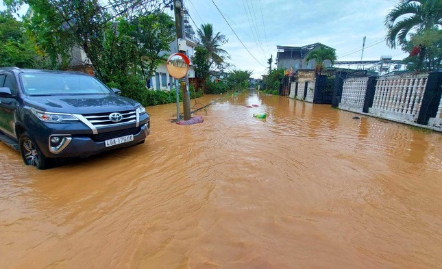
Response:
[[[23,162],[28,166],[34,166],[37,169],[46,169],[50,166],[50,159],[42,155],[40,149],[25,131],[21,134],[19,139],[20,153],[23,157]]]

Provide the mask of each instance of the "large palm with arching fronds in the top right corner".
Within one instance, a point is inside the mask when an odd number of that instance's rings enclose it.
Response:
[[[410,15],[402,18],[404,15]],[[402,0],[385,17],[388,29],[386,43],[393,49],[396,40],[405,46],[406,36],[412,29],[426,30],[442,26],[441,0]]]

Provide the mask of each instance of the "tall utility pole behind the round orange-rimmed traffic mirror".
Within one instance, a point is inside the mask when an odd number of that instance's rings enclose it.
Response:
[[[184,28],[184,3],[183,0],[173,0],[175,11],[175,27],[177,29],[177,47],[180,53],[186,55],[186,29]],[[181,81],[183,94],[184,120],[191,119],[191,97],[188,90],[188,75]]]

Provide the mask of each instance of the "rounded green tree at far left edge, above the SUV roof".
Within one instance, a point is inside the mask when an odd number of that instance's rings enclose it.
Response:
[[[38,55],[23,23],[6,12],[0,12],[0,40],[0,66],[33,68],[37,65]]]

